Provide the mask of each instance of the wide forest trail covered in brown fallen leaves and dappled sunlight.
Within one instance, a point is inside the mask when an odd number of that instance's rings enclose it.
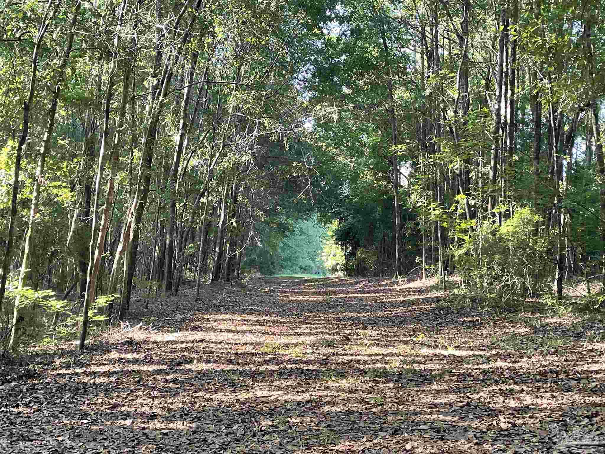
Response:
[[[384,278],[255,278],[151,307],[87,352],[0,373],[0,452],[552,452],[557,430],[605,441],[605,334],[580,318],[479,312]]]

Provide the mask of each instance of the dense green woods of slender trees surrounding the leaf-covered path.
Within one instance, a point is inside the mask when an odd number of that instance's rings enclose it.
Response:
[[[79,326],[82,349],[89,326],[185,280],[329,271],[328,234],[333,272],[456,273],[505,304],[596,275],[598,306],[603,15],[594,0],[3,2],[0,338]],[[304,260],[272,256],[294,237]]]

